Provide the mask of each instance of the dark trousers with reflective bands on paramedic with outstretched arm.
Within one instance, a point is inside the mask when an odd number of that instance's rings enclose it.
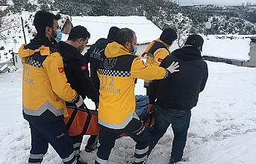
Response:
[[[150,133],[148,128],[138,119],[131,119],[131,122],[124,129],[109,129],[101,127],[99,134],[99,148],[97,151],[96,164],[105,164],[110,156],[111,149],[115,145],[117,136],[126,134],[136,143],[134,152],[134,163],[146,163],[149,153]]]

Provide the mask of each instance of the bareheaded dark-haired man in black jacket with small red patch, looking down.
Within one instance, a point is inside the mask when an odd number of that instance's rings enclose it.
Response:
[[[72,28],[66,42],[59,42],[55,47],[63,57],[64,71],[71,88],[77,91],[83,99],[86,97],[92,99],[98,108],[99,94],[90,79],[87,60],[81,54],[88,43],[88,39],[90,39],[90,33],[87,28],[78,25]],[[70,105],[69,102],[66,102],[66,105]],[[80,108],[87,107],[83,104]],[[78,154],[83,135],[71,137],[71,139],[75,153]]]

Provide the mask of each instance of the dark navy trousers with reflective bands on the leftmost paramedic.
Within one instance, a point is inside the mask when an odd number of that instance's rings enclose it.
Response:
[[[63,120],[55,122],[29,122],[31,151],[28,163],[42,163],[49,143],[65,164],[76,163],[75,154]]]

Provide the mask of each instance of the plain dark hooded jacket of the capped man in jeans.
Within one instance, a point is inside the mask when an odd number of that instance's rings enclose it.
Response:
[[[190,45],[174,50],[163,59],[160,67],[166,68],[174,61],[179,63],[180,71],[167,79],[154,80],[149,101],[154,104],[157,99],[157,105],[163,108],[190,110],[196,106],[199,93],[205,88],[207,64],[202,59],[200,50]]]

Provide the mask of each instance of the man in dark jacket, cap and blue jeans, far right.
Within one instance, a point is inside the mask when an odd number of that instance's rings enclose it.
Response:
[[[207,81],[207,64],[201,56],[203,43],[204,39],[197,34],[188,36],[184,46],[174,50],[160,64],[160,67],[166,68],[169,63],[178,62],[179,73],[174,73],[167,79],[154,80],[150,88],[149,111],[156,104],[156,120],[151,131],[149,153],[172,124],[174,140],[169,160],[171,164],[182,160],[191,109],[196,106],[199,93],[204,90]]]

